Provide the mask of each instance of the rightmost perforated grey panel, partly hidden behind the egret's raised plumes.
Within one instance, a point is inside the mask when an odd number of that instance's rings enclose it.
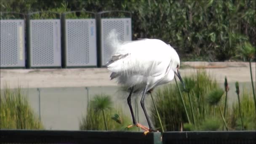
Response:
[[[101,64],[104,66],[110,58],[107,36],[112,29],[119,33],[119,40],[131,41],[131,18],[101,19]]]

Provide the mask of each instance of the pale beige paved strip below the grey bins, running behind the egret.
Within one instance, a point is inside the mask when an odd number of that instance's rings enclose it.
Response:
[[[252,63],[255,76],[255,62]],[[229,82],[249,82],[248,62],[183,62],[181,75],[191,75],[197,68],[204,67],[218,82],[227,76]],[[110,81],[110,73],[106,68],[86,69],[0,69],[1,87],[8,84],[10,88],[53,88],[53,87],[85,87],[116,86]],[[253,77],[255,80],[255,77]]]

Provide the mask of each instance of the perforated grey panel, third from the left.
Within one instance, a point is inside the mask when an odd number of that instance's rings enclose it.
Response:
[[[67,19],[65,22],[67,67],[96,67],[95,19]]]

